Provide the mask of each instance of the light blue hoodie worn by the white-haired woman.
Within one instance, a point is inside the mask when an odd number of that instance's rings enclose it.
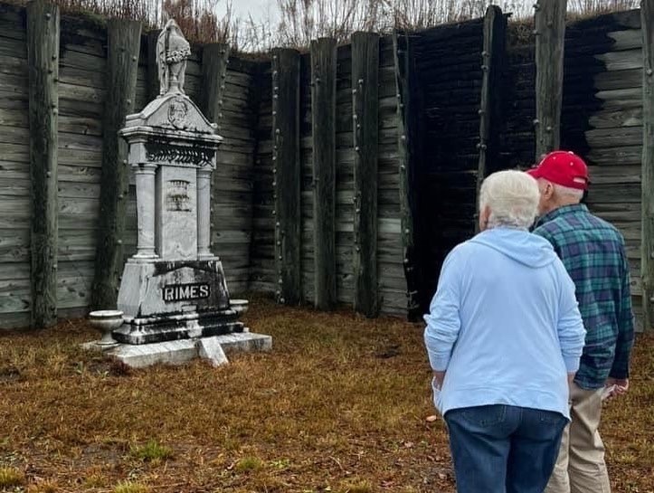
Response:
[[[585,330],[574,284],[545,239],[494,228],[450,251],[425,315],[431,367],[447,371],[434,403],[568,411],[567,373]]]

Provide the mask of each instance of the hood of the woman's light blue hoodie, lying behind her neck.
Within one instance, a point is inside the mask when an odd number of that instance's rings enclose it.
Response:
[[[485,245],[534,269],[545,267],[556,259],[550,242],[524,230],[493,228],[480,232],[469,242]]]

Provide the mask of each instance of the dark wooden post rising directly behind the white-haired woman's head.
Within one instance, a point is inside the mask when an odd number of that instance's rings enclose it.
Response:
[[[481,102],[479,105],[479,164],[477,166],[477,200],[481,182],[488,175],[488,163],[498,159],[501,112],[502,63],[507,45],[507,18],[497,5],[489,5],[484,17],[484,47],[481,52]],[[479,232],[479,222],[475,222]]]

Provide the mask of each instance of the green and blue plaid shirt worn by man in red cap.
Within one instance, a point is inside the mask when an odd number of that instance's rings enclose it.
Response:
[[[576,287],[587,332],[574,381],[584,389],[596,389],[609,376],[628,378],[634,327],[621,233],[583,204],[545,214],[534,233],[552,243]]]

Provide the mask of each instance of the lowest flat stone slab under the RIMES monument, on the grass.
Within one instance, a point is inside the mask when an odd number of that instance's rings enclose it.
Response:
[[[228,363],[226,354],[270,351],[272,337],[251,332],[227,334],[224,336],[201,337],[198,339],[181,339],[154,344],[101,346],[98,341],[83,344],[85,349],[99,350],[106,355],[115,356],[119,361],[132,368],[144,368],[150,365],[181,365],[196,357],[209,360],[212,365]]]

